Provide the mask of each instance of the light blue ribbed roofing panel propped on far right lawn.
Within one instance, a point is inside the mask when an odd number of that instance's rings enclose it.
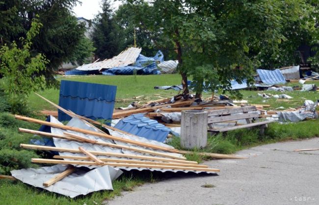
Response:
[[[279,69],[276,69],[274,71],[257,69],[256,71],[263,83],[267,85],[286,83],[285,77]]]

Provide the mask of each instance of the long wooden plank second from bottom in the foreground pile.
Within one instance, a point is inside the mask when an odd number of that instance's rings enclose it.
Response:
[[[55,155],[53,156],[55,159],[76,159],[76,160],[91,160],[90,157],[86,156],[61,156]],[[103,162],[118,162],[118,163],[130,163],[130,164],[153,164],[153,165],[176,165],[180,167],[189,167],[189,164],[182,164],[182,163],[167,163],[167,162],[156,162],[156,161],[140,161],[140,160],[128,160],[128,159],[111,159],[111,158],[99,158]],[[192,167],[201,167],[201,168],[208,168],[207,165],[199,165],[199,164],[192,164]]]

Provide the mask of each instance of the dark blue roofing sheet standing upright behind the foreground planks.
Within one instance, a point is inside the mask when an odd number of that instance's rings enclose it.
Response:
[[[105,119],[110,125],[115,104],[116,86],[62,80],[59,105],[90,119]],[[59,121],[71,117],[58,110]]]

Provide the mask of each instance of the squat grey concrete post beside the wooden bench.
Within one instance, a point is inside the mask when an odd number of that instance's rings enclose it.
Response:
[[[203,110],[184,110],[181,118],[181,146],[203,148],[207,144],[208,113]]]

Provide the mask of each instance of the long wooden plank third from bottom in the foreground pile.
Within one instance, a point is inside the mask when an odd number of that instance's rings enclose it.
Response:
[[[20,144],[20,147],[25,148],[25,149],[32,149],[32,150],[56,151],[56,152],[64,152],[64,153],[81,153],[80,150],[50,147],[50,146],[41,146],[41,145]],[[156,157],[156,156],[122,154],[122,153],[107,153],[107,152],[98,152],[98,151],[90,151],[90,150],[89,150],[89,152],[92,154],[95,154],[95,155],[103,155],[103,156],[116,156],[116,157],[123,157],[123,158],[144,159],[144,160],[152,160],[152,161],[166,161],[166,162],[175,162],[175,163],[198,164],[196,161],[186,161],[186,160]]]

